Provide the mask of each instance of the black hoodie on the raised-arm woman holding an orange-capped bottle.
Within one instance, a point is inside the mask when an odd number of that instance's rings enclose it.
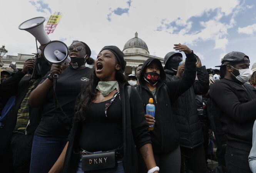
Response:
[[[196,78],[196,56],[194,53],[190,53],[186,56],[186,70],[180,80],[165,82],[166,74],[164,68],[162,66],[159,67],[161,81],[156,84],[156,99],[144,80],[147,64],[154,58],[147,59],[141,68],[139,76],[140,85],[137,87],[137,91],[144,103],[144,110],[146,110],[149,98],[153,98],[154,105],[156,106],[156,123],[154,130],[150,131],[154,153],[168,153],[179,146],[179,133],[176,127],[175,117],[172,113],[171,104],[178,96],[193,85]]]

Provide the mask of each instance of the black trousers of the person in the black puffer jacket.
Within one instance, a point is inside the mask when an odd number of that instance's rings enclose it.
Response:
[[[184,165],[185,163],[185,165]],[[206,160],[204,156],[204,146],[201,144],[195,148],[181,147],[181,172],[191,169],[194,173],[206,173]],[[183,169],[185,166],[185,170]]]

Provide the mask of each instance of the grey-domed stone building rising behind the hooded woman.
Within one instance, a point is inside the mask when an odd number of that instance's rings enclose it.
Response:
[[[125,68],[127,75],[131,73],[135,74],[137,66],[143,64],[148,58],[157,58],[164,66],[164,58],[149,55],[147,44],[141,38],[138,38],[137,32],[134,38],[131,38],[125,43],[123,53],[127,63]]]

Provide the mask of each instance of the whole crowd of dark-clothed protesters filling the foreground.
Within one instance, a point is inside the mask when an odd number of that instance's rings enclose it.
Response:
[[[84,42],[68,49],[69,64],[41,53],[1,72],[0,172],[256,172],[256,72],[244,53],[211,69],[179,43],[164,67],[148,58],[125,76],[116,46],[95,61]]]

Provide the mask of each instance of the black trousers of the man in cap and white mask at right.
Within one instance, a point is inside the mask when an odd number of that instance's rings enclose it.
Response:
[[[251,173],[248,161],[249,153],[227,146],[225,161],[228,173]]]

